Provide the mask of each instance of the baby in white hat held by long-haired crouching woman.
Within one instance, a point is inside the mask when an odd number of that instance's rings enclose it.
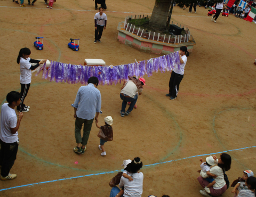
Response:
[[[201,161],[201,171],[200,171],[200,175],[205,178],[205,180],[207,180],[207,182],[209,182],[209,184],[207,186],[205,186],[204,190],[207,192],[207,193],[211,193],[210,191],[210,187],[212,187],[216,182],[215,180],[212,178],[216,178],[217,176],[216,175],[213,175],[210,173],[210,170],[211,170],[211,166],[214,166],[216,163],[213,159],[212,156],[209,156],[209,157],[206,157],[205,159],[206,161],[204,162],[204,159],[200,158],[199,161]]]

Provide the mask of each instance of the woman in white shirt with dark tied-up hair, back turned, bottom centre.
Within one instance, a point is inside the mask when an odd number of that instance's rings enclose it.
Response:
[[[127,165],[124,169],[124,173],[132,177],[132,181],[124,176],[121,177],[119,187],[122,190],[116,194],[113,192],[110,193],[110,197],[141,197],[142,186],[143,186],[143,173],[140,173],[139,170],[142,168],[143,164],[140,158],[134,158],[134,160]],[[117,187],[113,187],[116,190]],[[118,189],[119,190],[119,189]]]

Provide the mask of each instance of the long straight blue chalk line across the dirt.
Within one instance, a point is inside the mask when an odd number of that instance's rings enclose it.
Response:
[[[210,154],[219,154],[219,153],[225,153],[225,152],[230,152],[230,151],[238,151],[238,150],[250,149],[250,148],[254,148],[254,147],[256,147],[256,146],[243,147],[241,149],[234,149],[234,150],[229,150],[229,151],[215,152],[215,153],[210,153]],[[153,164],[145,165],[144,167],[155,166],[155,165],[159,165],[159,164],[163,164],[163,163],[170,163],[170,162],[173,162],[173,161],[179,161],[179,160],[184,160],[184,159],[189,159],[189,158],[201,157],[201,156],[210,155],[210,154],[199,154],[199,155],[195,155],[195,156],[185,157],[185,158],[182,158],[182,159],[174,159],[174,160],[170,160],[170,161],[153,163]],[[49,181],[40,182],[40,183],[31,183],[31,184],[27,184],[27,185],[20,185],[20,186],[15,186],[15,187],[4,188],[4,189],[1,189],[0,191],[12,190],[14,188],[19,188],[19,187],[34,186],[34,185],[43,184],[43,183],[52,183],[52,182],[57,182],[57,181],[60,181],[60,180],[69,180],[69,179],[82,178],[82,177],[94,176],[94,175],[112,174],[112,173],[116,173],[116,172],[119,172],[119,171],[122,171],[122,170],[107,171],[107,172],[104,172],[104,173],[75,176],[75,177],[70,177],[70,178],[61,178],[61,179],[49,180]]]

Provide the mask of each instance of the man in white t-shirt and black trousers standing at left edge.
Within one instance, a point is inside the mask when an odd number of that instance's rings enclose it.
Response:
[[[20,121],[23,117],[22,112],[19,112],[19,119],[15,113],[15,106],[20,104],[20,93],[12,91],[7,94],[6,101],[1,108],[1,125],[0,125],[0,168],[1,180],[11,180],[17,177],[15,174],[10,174],[10,170],[14,165],[18,152],[19,138],[18,129]]]

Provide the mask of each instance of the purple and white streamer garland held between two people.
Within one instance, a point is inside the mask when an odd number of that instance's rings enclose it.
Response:
[[[179,53],[171,53],[158,58],[151,58],[147,61],[135,62],[125,65],[110,66],[84,66],[73,65],[61,62],[52,61],[49,69],[46,69],[46,64],[37,71],[35,76],[43,70],[42,79],[50,81],[65,82],[69,84],[87,84],[87,80],[94,76],[98,77],[99,85],[116,85],[122,80],[128,80],[128,76],[143,77],[148,74],[148,77],[153,75],[153,72],[172,71],[177,66],[180,69]]]

